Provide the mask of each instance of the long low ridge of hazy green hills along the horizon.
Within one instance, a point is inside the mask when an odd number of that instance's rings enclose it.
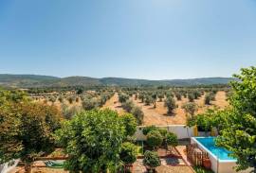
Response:
[[[40,75],[9,75],[0,74],[0,86],[17,88],[40,88],[40,87],[66,87],[66,86],[140,86],[140,85],[170,85],[192,86],[228,84],[235,78],[191,78],[191,79],[166,79],[148,80],[136,78],[89,78],[67,77],[58,78]]]

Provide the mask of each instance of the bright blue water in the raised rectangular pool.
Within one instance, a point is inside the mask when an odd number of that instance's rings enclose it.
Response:
[[[206,147],[210,152],[215,155],[219,160],[226,161],[236,161],[236,159],[229,156],[230,151],[222,148],[216,147],[214,137],[207,138],[195,138],[203,147]]]

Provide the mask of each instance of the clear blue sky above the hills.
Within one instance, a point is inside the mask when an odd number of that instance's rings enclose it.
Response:
[[[231,77],[256,65],[256,0],[1,0],[0,74]]]

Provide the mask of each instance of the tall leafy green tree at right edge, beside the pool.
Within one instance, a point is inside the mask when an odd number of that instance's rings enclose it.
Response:
[[[231,151],[237,158],[238,170],[248,167],[256,173],[256,68],[244,68],[239,81],[231,82],[233,95],[228,125],[221,130],[217,145]]]

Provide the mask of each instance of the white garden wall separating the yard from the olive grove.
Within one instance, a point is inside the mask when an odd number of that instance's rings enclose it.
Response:
[[[188,139],[193,137],[193,129],[188,128],[185,125],[170,125],[170,126],[156,126],[157,128],[165,129],[170,132],[174,132],[178,139]],[[145,126],[138,126],[137,132],[135,133],[135,137],[137,141],[145,141],[146,136],[142,133],[143,128]]]

